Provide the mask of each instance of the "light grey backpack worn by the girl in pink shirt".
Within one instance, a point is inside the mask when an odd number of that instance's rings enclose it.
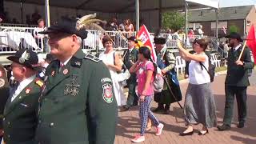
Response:
[[[146,64],[148,64],[149,62],[146,62]],[[146,70],[146,64],[144,67],[144,70]],[[162,78],[161,74],[158,74],[156,72],[155,77],[154,77],[154,81],[153,81],[153,86],[154,86],[154,92],[155,93],[161,93],[162,89],[163,89],[163,85],[164,85],[164,79]]]

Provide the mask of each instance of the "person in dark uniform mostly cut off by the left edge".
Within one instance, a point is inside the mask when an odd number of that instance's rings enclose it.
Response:
[[[9,97],[9,83],[5,68],[0,64],[0,139],[2,138],[3,110]]]

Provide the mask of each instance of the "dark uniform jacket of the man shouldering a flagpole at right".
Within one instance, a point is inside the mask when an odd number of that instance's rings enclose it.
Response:
[[[248,69],[254,68],[254,62],[250,57],[250,49],[245,48],[241,61],[244,62],[243,66],[238,66],[235,62],[238,60],[239,55],[242,51],[242,46],[238,50],[229,50],[227,58],[227,74],[226,74],[226,86],[249,86]]]

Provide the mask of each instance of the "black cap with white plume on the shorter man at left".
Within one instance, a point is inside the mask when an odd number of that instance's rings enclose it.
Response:
[[[14,56],[7,57],[7,59],[32,70],[38,70],[38,54],[30,49],[18,50]]]

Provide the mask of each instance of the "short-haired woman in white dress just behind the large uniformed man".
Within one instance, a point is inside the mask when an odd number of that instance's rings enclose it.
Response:
[[[99,54],[99,59],[102,60],[110,70],[110,75],[113,82],[114,96],[118,102],[118,106],[126,104],[126,98],[122,91],[122,86],[118,82],[118,72],[121,72],[122,65],[121,60],[117,53],[115,53],[113,48],[113,41],[105,37],[102,39],[103,46],[105,51],[102,54]]]

